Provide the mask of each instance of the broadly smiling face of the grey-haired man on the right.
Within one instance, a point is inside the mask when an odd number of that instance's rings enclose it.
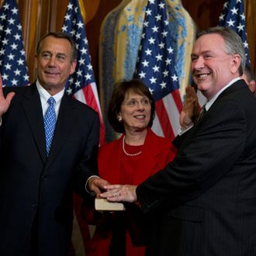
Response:
[[[227,54],[225,41],[219,34],[200,36],[191,57],[193,80],[208,100],[239,76],[240,56]]]

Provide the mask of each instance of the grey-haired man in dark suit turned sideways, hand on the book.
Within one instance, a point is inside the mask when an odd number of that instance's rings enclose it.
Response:
[[[215,27],[199,34],[191,56],[206,112],[164,170],[137,187],[106,186],[102,197],[159,216],[147,255],[256,255],[256,100],[240,79],[244,46]]]

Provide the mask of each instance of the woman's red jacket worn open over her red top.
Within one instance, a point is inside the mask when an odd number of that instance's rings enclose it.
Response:
[[[122,142],[123,136],[99,148],[99,175],[112,184],[120,184]],[[169,161],[174,159],[175,151],[170,139],[158,137],[152,130],[148,129],[144,150],[140,156],[141,161],[134,167],[133,185],[139,185],[150,175],[164,168]],[[97,228],[94,237],[92,237],[88,255],[108,255],[111,237],[111,230],[106,232],[106,230]],[[126,256],[142,256],[144,249],[144,246],[133,247],[130,234],[126,232]]]

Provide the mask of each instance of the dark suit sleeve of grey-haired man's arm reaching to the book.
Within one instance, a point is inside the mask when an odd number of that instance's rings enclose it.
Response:
[[[169,207],[180,205],[214,185],[243,154],[246,127],[244,109],[237,102],[212,106],[192,127],[175,160],[137,187],[144,212],[166,200]]]

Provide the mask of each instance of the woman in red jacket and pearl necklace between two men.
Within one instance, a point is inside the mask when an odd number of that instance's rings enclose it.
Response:
[[[100,177],[112,184],[138,185],[173,160],[171,140],[150,129],[154,110],[154,99],[143,82],[133,79],[116,84],[108,119],[123,134],[99,148]],[[144,221],[138,206],[128,205],[122,213],[95,213],[97,217],[88,255],[144,255]]]

